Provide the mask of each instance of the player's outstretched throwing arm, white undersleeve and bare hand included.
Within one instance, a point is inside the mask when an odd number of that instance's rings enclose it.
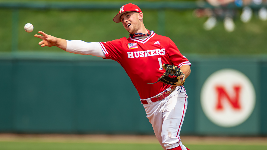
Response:
[[[42,39],[42,41],[39,42],[39,45],[41,45],[41,47],[57,46],[58,48],[61,48],[69,53],[81,54],[81,55],[92,55],[92,56],[106,58],[99,43],[97,42],[87,43],[81,40],[68,41],[68,40],[54,37],[52,35],[45,34],[42,31],[39,31],[38,33],[42,35],[35,34],[34,36]]]

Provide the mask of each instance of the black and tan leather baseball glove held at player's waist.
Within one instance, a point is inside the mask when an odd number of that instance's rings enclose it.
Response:
[[[163,69],[166,71],[163,76],[158,78],[157,82],[163,82],[164,84],[169,84],[172,86],[181,86],[184,85],[185,81],[185,74],[182,72],[182,70],[176,66],[172,66],[169,64],[163,64]],[[180,80],[180,76],[183,75],[183,80]],[[157,83],[155,82],[155,83]],[[148,84],[154,84],[154,83],[148,83]]]

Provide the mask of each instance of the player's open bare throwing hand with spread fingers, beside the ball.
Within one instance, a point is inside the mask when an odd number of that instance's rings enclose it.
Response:
[[[38,33],[42,34],[42,35],[38,35],[38,34],[35,34],[34,37],[38,37],[40,39],[42,39],[41,42],[39,42],[39,45],[41,45],[41,47],[44,47],[44,46],[56,46],[56,42],[57,42],[57,38],[56,37],[53,37],[52,35],[48,35],[48,34],[45,34],[43,31],[39,31]]]

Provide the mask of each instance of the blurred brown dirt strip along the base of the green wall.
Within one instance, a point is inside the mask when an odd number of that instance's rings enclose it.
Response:
[[[201,137],[181,136],[184,144],[198,145],[267,145],[267,137]],[[63,142],[63,143],[151,143],[158,144],[151,135],[75,135],[75,134],[11,134],[0,133],[1,141]]]

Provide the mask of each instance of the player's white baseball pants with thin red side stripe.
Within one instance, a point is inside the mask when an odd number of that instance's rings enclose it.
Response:
[[[170,88],[167,90],[170,90]],[[160,145],[165,150],[178,146],[180,146],[182,150],[186,150],[186,147],[182,145],[180,140],[180,130],[187,109],[187,97],[184,87],[177,86],[176,89],[163,100],[156,101],[151,105],[143,104],[155,135]]]

